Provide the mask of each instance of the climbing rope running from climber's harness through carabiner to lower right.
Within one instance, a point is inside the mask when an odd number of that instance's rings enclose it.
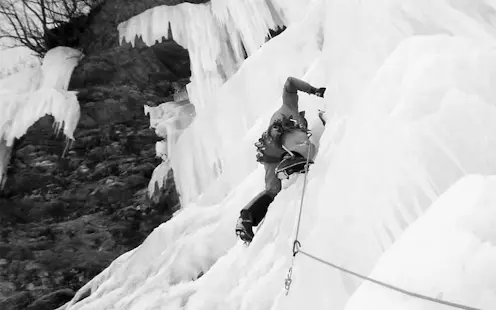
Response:
[[[310,143],[310,142],[308,142],[308,143]],[[301,253],[301,254],[307,256],[308,258],[311,258],[311,259],[313,259],[315,261],[318,261],[318,262],[320,262],[320,263],[322,263],[324,265],[330,266],[332,268],[338,269],[338,270],[340,270],[342,272],[345,272],[347,274],[350,274],[350,275],[353,275],[355,277],[358,277],[358,278],[360,278],[362,280],[366,280],[366,281],[372,282],[374,284],[380,285],[382,287],[391,289],[393,291],[396,291],[396,292],[399,292],[399,293],[402,293],[402,294],[405,294],[405,295],[408,295],[408,296],[411,296],[411,297],[415,297],[415,298],[423,299],[423,300],[426,300],[426,301],[430,301],[430,302],[442,304],[442,305],[445,305],[445,306],[451,306],[453,308],[458,308],[458,309],[462,309],[462,310],[482,310],[482,309],[479,309],[479,308],[469,307],[469,306],[457,304],[457,303],[454,303],[454,302],[444,301],[444,300],[439,299],[439,298],[434,298],[434,297],[429,297],[429,296],[426,296],[426,295],[414,293],[414,292],[411,292],[411,291],[408,291],[408,290],[405,290],[405,289],[396,287],[394,285],[391,285],[391,284],[388,284],[388,283],[385,283],[385,282],[381,282],[381,281],[375,280],[373,278],[370,278],[370,277],[361,275],[361,274],[356,273],[354,271],[351,271],[349,269],[346,269],[346,268],[340,267],[340,266],[338,266],[336,264],[333,264],[331,262],[325,261],[325,260],[323,260],[321,258],[318,258],[318,257],[316,257],[316,256],[314,256],[312,254],[309,254],[309,253],[307,253],[305,251],[302,251],[300,249],[301,248],[301,243],[298,240],[298,237],[299,237],[299,233],[300,233],[301,215],[302,215],[302,211],[303,211],[303,199],[305,197],[305,189],[306,189],[306,185],[307,185],[308,164],[309,164],[309,161],[310,161],[309,158],[310,158],[310,147],[308,148],[307,163],[305,165],[305,177],[303,179],[303,190],[302,190],[302,193],[301,193],[301,200],[300,200],[300,209],[299,209],[299,212],[298,212],[298,220],[296,222],[296,234],[295,234],[295,239],[294,239],[294,242],[293,242],[293,258],[291,259],[291,264],[290,264],[288,273],[286,275],[286,278],[284,279],[284,288],[286,290],[286,295],[289,294],[289,290],[291,288],[291,283],[293,282],[293,280],[292,280],[292,276],[293,276],[293,264],[294,264],[294,260],[295,260],[296,254]]]

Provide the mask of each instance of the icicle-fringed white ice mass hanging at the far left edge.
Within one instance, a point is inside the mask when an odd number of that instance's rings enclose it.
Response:
[[[25,68],[0,80],[0,184],[10,158],[9,148],[38,119],[50,114],[55,128],[68,139],[79,121],[76,92],[67,91],[82,54],[68,47],[47,52],[41,66]]]

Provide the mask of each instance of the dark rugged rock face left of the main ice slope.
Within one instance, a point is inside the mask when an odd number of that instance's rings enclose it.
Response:
[[[119,22],[177,2],[105,1],[79,40],[86,57],[69,87],[81,105],[76,140],[67,145],[47,116],[16,141],[0,193],[0,309],[61,306],[179,208],[172,174],[155,202],[146,195],[161,160],[143,105],[188,83],[188,53],[117,39]]]

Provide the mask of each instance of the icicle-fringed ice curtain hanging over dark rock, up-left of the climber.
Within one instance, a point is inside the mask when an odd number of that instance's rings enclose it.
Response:
[[[269,28],[291,25],[301,19],[309,3],[217,0],[202,5],[164,5],[119,25],[121,40],[134,42],[139,35],[146,44],[152,45],[168,37],[167,25],[170,24],[174,40],[188,49],[191,60],[188,94],[197,118],[170,154],[183,205],[196,199],[222,174],[226,150],[218,147],[217,140],[225,133],[219,131],[217,124],[223,121],[220,115],[224,115],[224,107],[229,104],[239,109],[239,113],[244,109],[239,96],[229,103],[219,101],[216,95],[219,86],[238,70],[244,52],[252,55],[263,45]],[[261,90],[253,88],[251,91]],[[269,98],[262,100],[270,102]],[[243,130],[251,126],[242,119],[243,115],[233,117]]]

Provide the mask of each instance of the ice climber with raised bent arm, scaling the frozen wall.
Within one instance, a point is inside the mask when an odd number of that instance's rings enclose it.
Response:
[[[255,144],[257,161],[265,167],[265,190],[253,198],[242,210],[236,224],[236,235],[251,242],[253,226],[258,226],[267,213],[270,203],[281,191],[281,180],[291,173],[302,172],[315,155],[315,146],[308,140],[308,123],[305,112],[298,111],[298,91],[324,97],[325,88],[288,77],[282,93],[282,106],[270,119],[269,128]],[[322,122],[323,117],[319,114]]]

